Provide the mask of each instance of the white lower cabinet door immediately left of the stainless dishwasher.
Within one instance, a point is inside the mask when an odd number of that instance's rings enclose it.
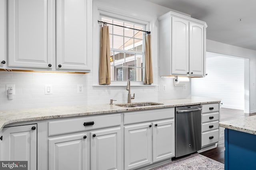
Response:
[[[174,119],[153,122],[153,162],[175,156]]]

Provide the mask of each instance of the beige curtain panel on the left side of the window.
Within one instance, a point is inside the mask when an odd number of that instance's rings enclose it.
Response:
[[[100,27],[99,84],[110,84],[110,46],[108,26]]]

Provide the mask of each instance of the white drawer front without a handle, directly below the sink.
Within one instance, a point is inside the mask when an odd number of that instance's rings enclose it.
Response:
[[[124,113],[124,124],[174,118],[174,107]]]

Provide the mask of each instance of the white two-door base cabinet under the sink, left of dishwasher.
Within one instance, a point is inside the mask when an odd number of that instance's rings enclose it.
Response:
[[[125,113],[124,122],[143,121],[146,111]],[[168,114],[167,114],[168,113]],[[155,116],[162,120],[155,120]],[[165,117],[165,118],[164,118]],[[130,170],[175,156],[174,109],[148,111],[144,119],[150,122],[124,126],[124,169]]]

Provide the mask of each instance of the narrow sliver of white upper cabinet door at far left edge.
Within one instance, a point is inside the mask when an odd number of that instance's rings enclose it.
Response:
[[[0,1],[0,68],[6,68],[7,56],[7,4],[6,0]]]

